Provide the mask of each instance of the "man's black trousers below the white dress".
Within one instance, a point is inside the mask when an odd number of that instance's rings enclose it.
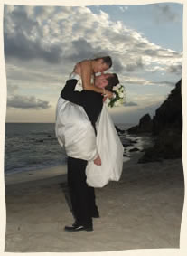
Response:
[[[77,223],[92,226],[92,214],[98,211],[95,204],[94,188],[86,183],[88,161],[68,157],[68,185],[72,213]]]

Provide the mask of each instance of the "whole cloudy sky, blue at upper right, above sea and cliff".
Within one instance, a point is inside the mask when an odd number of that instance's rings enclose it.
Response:
[[[76,62],[110,55],[126,104],[110,110],[136,123],[166,99],[182,76],[182,5],[85,7],[5,5],[7,122],[54,122]]]

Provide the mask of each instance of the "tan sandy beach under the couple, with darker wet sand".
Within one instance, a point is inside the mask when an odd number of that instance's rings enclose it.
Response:
[[[65,232],[73,223],[66,167],[5,176],[5,251],[83,252],[179,248],[182,160],[124,163],[119,182],[96,189],[100,218],[93,232]]]

